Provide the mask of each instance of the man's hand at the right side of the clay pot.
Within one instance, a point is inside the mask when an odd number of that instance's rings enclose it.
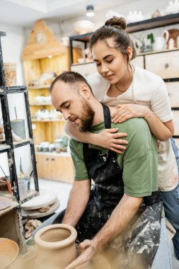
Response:
[[[87,269],[96,254],[96,246],[92,240],[84,240],[79,244],[81,255],[64,269]]]

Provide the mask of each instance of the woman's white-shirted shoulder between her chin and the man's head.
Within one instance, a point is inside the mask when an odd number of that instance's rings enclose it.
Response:
[[[88,76],[87,81],[91,86],[94,96],[96,96],[98,101],[101,101],[110,86],[108,81],[103,79],[103,76],[100,76],[98,73]]]

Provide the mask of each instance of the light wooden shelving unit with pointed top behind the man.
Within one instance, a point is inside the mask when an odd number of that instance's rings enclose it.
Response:
[[[46,37],[42,43],[37,42],[36,36],[39,31],[43,32]],[[74,47],[72,50],[74,60],[76,59],[77,61],[78,57],[81,57],[81,49]],[[55,139],[66,135],[64,131],[65,121],[62,120],[62,115],[57,116],[57,118],[41,118],[41,115],[38,116],[38,110],[50,111],[54,109],[52,103],[49,103],[48,98],[46,99],[47,103],[42,98],[50,96],[49,88],[52,81],[45,81],[42,84],[40,77],[42,74],[49,74],[51,71],[54,71],[57,75],[61,74],[62,71],[68,71],[70,69],[70,57],[69,47],[64,47],[57,40],[52,34],[52,30],[47,27],[44,21],[37,21],[33,31],[30,33],[28,43],[23,50],[23,67],[25,84],[28,85],[35,145],[40,144],[40,142],[54,143]],[[33,86],[32,81],[34,80],[37,82],[36,86],[35,84]],[[35,100],[37,96],[41,97],[42,102],[36,101],[37,99]],[[35,114],[36,116],[33,117]],[[51,158],[52,154],[53,157]],[[73,164],[69,154],[63,158],[62,153],[56,154],[55,151],[53,153],[37,151],[35,156],[37,172],[40,178],[68,182],[73,180]]]

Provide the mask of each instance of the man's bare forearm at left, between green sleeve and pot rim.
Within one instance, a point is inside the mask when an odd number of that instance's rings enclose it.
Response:
[[[69,224],[73,227],[79,222],[86,205],[88,203],[91,191],[91,181],[75,181],[71,189],[67,210],[62,219],[62,223]]]

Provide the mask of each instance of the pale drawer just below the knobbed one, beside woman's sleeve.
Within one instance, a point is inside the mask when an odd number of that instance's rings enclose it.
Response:
[[[168,89],[171,108],[179,108],[179,81],[167,82],[166,88]]]

